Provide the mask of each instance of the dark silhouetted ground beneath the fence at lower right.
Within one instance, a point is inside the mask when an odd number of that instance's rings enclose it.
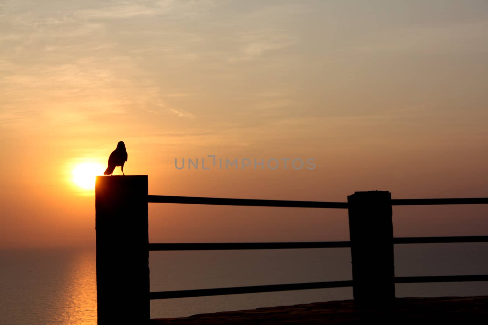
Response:
[[[197,324],[487,324],[488,296],[396,298],[391,305],[353,300],[153,319],[151,325]]]

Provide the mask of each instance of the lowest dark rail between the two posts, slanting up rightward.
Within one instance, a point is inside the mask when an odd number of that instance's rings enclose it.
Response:
[[[158,292],[149,292],[149,299],[155,300],[155,299],[171,299],[171,298],[187,298],[187,297],[205,297],[205,296],[220,296],[226,294],[323,289],[323,288],[338,288],[338,287],[351,287],[351,286],[352,286],[352,280],[347,280],[347,281],[294,283],[294,284],[268,285],[268,286],[158,291]]]

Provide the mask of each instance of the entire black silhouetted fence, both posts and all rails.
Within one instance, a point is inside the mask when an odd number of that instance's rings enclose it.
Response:
[[[347,209],[350,241],[149,244],[148,203]],[[487,204],[488,198],[391,199],[355,192],[347,202],[148,195],[147,175],[98,176],[95,188],[98,324],[147,323],[150,300],[352,287],[358,304],[391,302],[395,283],[488,281],[488,275],[394,276],[394,244],[488,242],[488,236],[393,237],[392,206]],[[352,280],[150,292],[149,251],[212,249],[351,249]]]

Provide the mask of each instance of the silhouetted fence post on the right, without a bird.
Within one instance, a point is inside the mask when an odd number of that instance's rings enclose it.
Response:
[[[354,192],[347,196],[354,300],[395,298],[391,193]]]

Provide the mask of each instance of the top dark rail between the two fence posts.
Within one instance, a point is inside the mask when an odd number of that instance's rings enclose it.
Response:
[[[209,205],[229,205],[229,206],[248,206],[248,207],[347,209],[346,202],[232,199],[232,198],[217,198],[217,197],[170,196],[170,195],[148,195],[147,202],[148,203],[209,204]]]

